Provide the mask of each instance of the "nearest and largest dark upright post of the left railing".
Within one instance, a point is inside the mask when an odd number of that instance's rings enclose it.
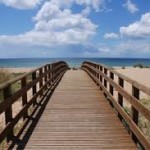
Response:
[[[4,88],[3,94],[4,100],[12,95],[10,85]],[[9,122],[11,122],[11,120],[12,120],[12,105],[10,105],[10,107],[5,111],[5,124],[7,125]],[[7,134],[7,142],[9,142],[12,139],[12,137],[13,137],[13,129],[11,129],[10,132]]]

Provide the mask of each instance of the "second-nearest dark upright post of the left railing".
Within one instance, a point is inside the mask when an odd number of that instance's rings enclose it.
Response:
[[[21,88],[25,88],[27,85],[27,78],[23,77],[21,79]],[[27,91],[22,94],[22,106],[25,106],[27,104]],[[25,120],[28,117],[28,110],[24,113],[23,119]]]

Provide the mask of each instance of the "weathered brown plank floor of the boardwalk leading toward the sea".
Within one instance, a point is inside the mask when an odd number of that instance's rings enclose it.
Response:
[[[82,70],[67,71],[25,149],[136,149],[103,93]]]

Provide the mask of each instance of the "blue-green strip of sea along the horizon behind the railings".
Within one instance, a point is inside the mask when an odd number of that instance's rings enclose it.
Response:
[[[125,67],[136,64],[150,66],[150,58],[7,58],[0,59],[0,68],[32,68],[61,60],[66,61],[70,67],[80,67],[84,61],[101,63],[109,67]]]

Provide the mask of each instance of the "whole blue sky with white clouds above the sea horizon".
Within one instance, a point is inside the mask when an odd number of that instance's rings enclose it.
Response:
[[[0,58],[150,58],[150,0],[0,0]]]

